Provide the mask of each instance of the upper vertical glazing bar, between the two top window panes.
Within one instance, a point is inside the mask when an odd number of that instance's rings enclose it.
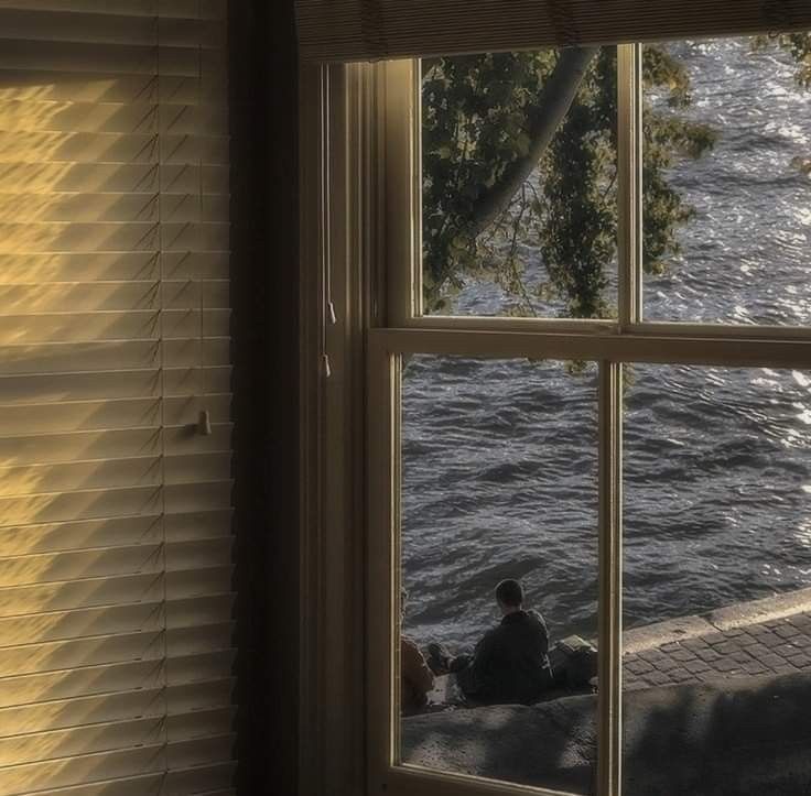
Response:
[[[618,314],[625,331],[642,319],[642,50],[617,47]]]

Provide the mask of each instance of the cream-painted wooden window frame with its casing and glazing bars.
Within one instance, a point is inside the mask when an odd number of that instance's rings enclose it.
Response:
[[[316,79],[314,75],[320,75]],[[306,74],[306,70],[305,70]],[[616,320],[446,317],[421,314],[419,86],[417,62],[314,67],[303,81],[303,130],[318,168],[303,173],[302,261],[311,299],[303,307],[303,394],[309,424],[340,426],[328,450],[311,451],[303,470],[310,514],[303,557],[320,584],[312,613],[332,612],[365,659],[343,657],[340,690],[305,695],[322,754],[356,760],[365,749],[366,794],[468,796],[553,793],[429,772],[399,759],[399,417],[404,355],[459,355],[595,361],[599,368],[599,694],[598,796],[621,787],[621,367],[682,363],[808,368],[811,327],[651,323],[641,315],[641,45],[618,47],[618,262]],[[332,87],[325,89],[327,76]],[[316,91],[317,86],[317,91]],[[313,102],[320,92],[320,102]],[[324,111],[327,97],[332,111]],[[321,109],[321,112],[315,110]],[[339,111],[336,113],[335,108]],[[327,123],[329,122],[329,123]],[[306,138],[306,137],[305,137]],[[336,170],[335,164],[339,164]],[[332,164],[332,170],[329,168]],[[337,173],[336,173],[337,172]],[[326,198],[325,198],[326,197]],[[328,201],[327,201],[328,199]],[[313,237],[313,218],[321,235]],[[337,294],[331,291],[340,285]],[[312,299],[317,295],[317,301]],[[340,298],[337,323],[326,312]],[[309,325],[309,326],[307,326]],[[322,337],[313,330],[317,329]],[[323,334],[322,334],[323,332]],[[332,375],[324,372],[324,355]],[[338,363],[336,372],[336,363]],[[358,373],[366,373],[365,385]],[[317,397],[318,406],[312,401]],[[318,408],[320,407],[320,408]],[[359,413],[358,413],[359,412]],[[358,419],[360,424],[358,425]],[[354,423],[352,429],[345,424]],[[316,446],[317,447],[317,446]],[[306,465],[306,462],[305,462]],[[313,469],[315,468],[315,469]],[[316,475],[314,475],[314,472]],[[317,483],[315,481],[317,476]],[[315,484],[315,486],[314,486]],[[358,502],[363,486],[366,502]],[[313,490],[316,490],[313,491]],[[318,511],[312,500],[318,499]],[[332,508],[329,508],[329,505]],[[350,553],[363,548],[358,559]],[[315,548],[315,549],[314,549]],[[335,557],[337,556],[337,558]],[[349,557],[348,557],[349,556]],[[337,561],[337,563],[336,563]],[[317,571],[314,575],[313,568]],[[347,578],[364,578],[365,591]],[[305,581],[306,582],[306,581]],[[359,618],[363,622],[359,623]],[[335,665],[309,626],[310,661],[321,677]],[[321,646],[320,646],[321,645]],[[334,652],[334,651],[333,651]],[[315,663],[313,663],[313,661]],[[353,668],[353,663],[355,667]],[[316,678],[317,679],[317,678]],[[313,678],[311,678],[312,683]],[[331,687],[335,688],[332,677]],[[316,716],[316,699],[343,710],[340,728]],[[328,711],[327,711],[328,712]],[[328,718],[328,717],[327,717]],[[334,723],[334,718],[333,718]],[[361,741],[365,748],[361,749]],[[348,765],[348,763],[347,763]],[[327,767],[334,770],[334,763]],[[318,766],[315,766],[318,767]],[[323,763],[321,765],[323,768]],[[339,767],[339,766],[338,766]],[[357,794],[363,773],[321,774],[331,793]],[[340,777],[344,777],[339,781]],[[322,779],[323,781],[323,779]],[[344,785],[348,789],[344,790]]]

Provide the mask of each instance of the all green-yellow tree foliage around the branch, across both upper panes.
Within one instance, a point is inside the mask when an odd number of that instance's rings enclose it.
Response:
[[[675,230],[692,209],[669,185],[679,156],[699,157],[714,133],[678,111],[690,103],[683,66],[646,47],[646,85],[666,97],[644,109],[645,265],[661,270],[678,251]],[[512,312],[528,314],[539,297],[556,296],[573,317],[605,317],[607,270],[616,258],[616,57],[604,48],[533,175],[516,185],[511,204],[485,229],[476,207],[527,155],[538,98],[558,65],[554,51],[436,58],[423,63],[424,299],[441,310],[471,275],[500,284]],[[529,286],[523,247],[536,247],[547,279]]]

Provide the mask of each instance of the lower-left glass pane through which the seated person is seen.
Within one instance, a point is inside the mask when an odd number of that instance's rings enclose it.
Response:
[[[404,364],[404,763],[592,793],[596,426],[593,364]]]

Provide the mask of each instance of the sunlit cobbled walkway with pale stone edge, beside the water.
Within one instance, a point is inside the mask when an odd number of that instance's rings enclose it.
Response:
[[[811,673],[811,589],[625,634],[626,690]]]

